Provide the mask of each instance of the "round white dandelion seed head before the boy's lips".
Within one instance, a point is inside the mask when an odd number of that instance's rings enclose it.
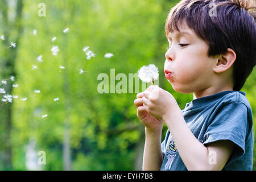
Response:
[[[143,66],[138,71],[138,76],[143,82],[151,82],[152,85],[154,80],[158,80],[158,68],[154,64],[149,64],[147,67]]]

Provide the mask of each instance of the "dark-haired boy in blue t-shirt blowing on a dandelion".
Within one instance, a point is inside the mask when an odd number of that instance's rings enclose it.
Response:
[[[210,4],[216,16],[209,15]],[[239,91],[256,60],[255,11],[249,6],[241,0],[181,0],[171,9],[164,73],[176,92],[194,98],[181,111],[158,86],[137,94],[146,134],[143,170],[252,169],[253,117]],[[163,122],[168,130],[161,144]]]

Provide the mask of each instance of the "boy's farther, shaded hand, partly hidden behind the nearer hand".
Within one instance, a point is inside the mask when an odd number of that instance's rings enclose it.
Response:
[[[134,105],[137,107],[137,117],[150,133],[160,133],[163,129],[163,121],[155,118],[146,111],[146,107],[142,101],[143,92],[137,94]]]

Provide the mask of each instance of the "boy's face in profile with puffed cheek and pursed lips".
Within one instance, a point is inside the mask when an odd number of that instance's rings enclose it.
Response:
[[[218,59],[208,57],[208,44],[186,24],[180,32],[170,33],[168,42],[170,47],[166,52],[164,70],[166,73],[171,72],[171,76],[166,76],[174,90],[193,93],[209,88],[213,82],[214,64]]]

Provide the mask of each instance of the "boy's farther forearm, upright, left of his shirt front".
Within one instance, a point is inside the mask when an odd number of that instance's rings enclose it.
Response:
[[[163,157],[161,150],[161,133],[153,134],[145,129],[146,139],[143,154],[143,170],[160,170]]]

